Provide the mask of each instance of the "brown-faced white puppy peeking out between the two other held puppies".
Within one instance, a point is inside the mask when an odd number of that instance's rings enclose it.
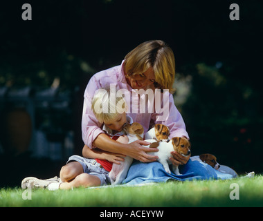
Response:
[[[169,142],[170,130],[163,124],[155,124],[152,129],[145,133],[145,140],[155,139],[161,142]]]

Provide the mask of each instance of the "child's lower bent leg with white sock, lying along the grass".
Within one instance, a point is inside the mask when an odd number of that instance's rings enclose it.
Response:
[[[90,175],[88,173],[81,173],[77,175],[71,182],[62,182],[60,189],[71,189],[72,187],[88,187],[88,186],[100,186],[100,178],[96,175]]]

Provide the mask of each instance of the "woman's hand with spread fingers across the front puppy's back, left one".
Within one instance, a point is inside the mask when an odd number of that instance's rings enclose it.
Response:
[[[140,162],[154,162],[158,159],[157,156],[149,155],[147,152],[157,152],[158,148],[148,148],[145,147],[151,143],[144,140],[136,140],[127,144],[127,155],[130,157],[139,160]],[[145,146],[141,146],[145,145]]]

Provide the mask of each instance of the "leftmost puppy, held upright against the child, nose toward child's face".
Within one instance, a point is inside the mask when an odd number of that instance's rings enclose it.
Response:
[[[143,140],[143,126],[139,123],[134,122],[133,124],[126,124],[123,127],[123,130],[126,132],[129,142],[134,142],[136,140]],[[125,157],[124,162],[120,164],[113,164],[112,169],[109,172],[109,178],[111,179],[111,184],[116,185],[123,182],[127,176],[129,166],[131,166],[133,159],[129,156]]]

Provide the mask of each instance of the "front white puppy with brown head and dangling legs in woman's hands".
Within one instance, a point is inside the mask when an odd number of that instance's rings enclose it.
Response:
[[[154,140],[145,140],[147,142],[152,142]],[[158,152],[150,152],[151,155],[157,155],[158,156],[158,162],[163,164],[163,168],[165,171],[169,174],[171,174],[169,164],[172,164],[170,162],[169,158],[172,157],[171,152],[176,151],[177,153],[180,153],[184,157],[187,157],[190,155],[191,151],[191,144],[190,142],[184,138],[184,137],[173,137],[170,142],[152,142],[150,144],[149,148],[154,147],[158,148]],[[172,171],[176,175],[181,175],[179,173],[178,166],[172,165]]]

